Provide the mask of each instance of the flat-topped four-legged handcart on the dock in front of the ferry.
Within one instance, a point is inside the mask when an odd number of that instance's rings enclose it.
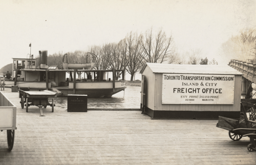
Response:
[[[19,97],[20,97],[20,106],[22,109],[24,106],[26,107],[26,112],[28,112],[28,108],[30,106],[37,106],[39,107],[41,116],[42,114],[42,107],[46,108],[47,106],[52,107],[52,112],[54,111],[54,99],[52,98],[52,104],[48,102],[48,97],[56,96],[57,92],[53,91],[24,91],[19,90]],[[26,104],[25,104],[26,103]]]

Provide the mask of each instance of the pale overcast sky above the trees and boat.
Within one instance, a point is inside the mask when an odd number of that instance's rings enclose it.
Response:
[[[0,0],[0,68],[39,50],[84,50],[119,42],[130,31],[163,28],[178,52],[202,49],[227,64],[221,45],[256,27],[256,1],[5,1]]]

